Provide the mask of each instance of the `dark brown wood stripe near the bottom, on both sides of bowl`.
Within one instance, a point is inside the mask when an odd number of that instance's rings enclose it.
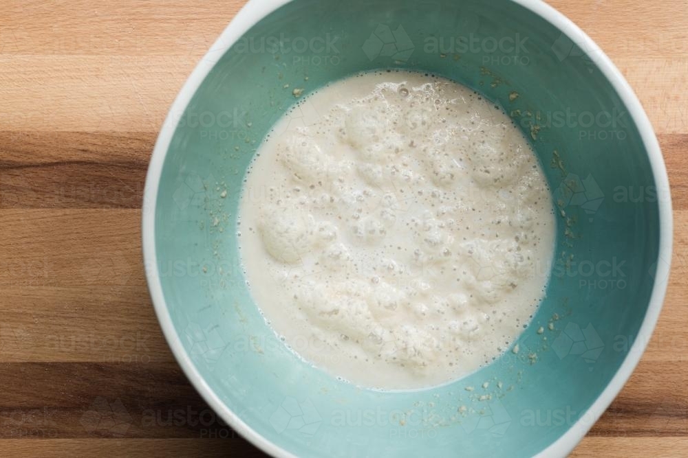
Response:
[[[672,382],[665,387],[680,391],[647,396],[652,374],[667,371],[653,363],[636,372],[638,387],[630,383],[590,434],[688,435],[685,389]],[[0,438],[237,438],[175,363],[2,363],[0,386]]]

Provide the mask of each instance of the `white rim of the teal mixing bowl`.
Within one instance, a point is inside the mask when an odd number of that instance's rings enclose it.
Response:
[[[191,98],[200,87],[200,84],[215,65],[215,58],[213,56],[221,56],[224,54],[224,51],[229,49],[229,47],[246,33],[250,27],[290,1],[292,0],[248,1],[248,3],[244,5],[244,8],[241,8],[235,18],[229,23],[219,38],[217,38],[213,47],[211,47],[208,53],[206,53],[204,58],[195,67],[191,76],[186,80],[182,90],[172,104],[164,124],[162,125],[162,129],[160,130],[158,140],[155,142],[155,148],[153,149],[151,163],[146,176],[142,208],[142,248],[147,282],[151,298],[153,299],[155,314],[158,316],[162,332],[175,358],[191,381],[191,384],[201,394],[202,398],[208,402],[210,407],[215,410],[231,428],[246,437],[246,439],[264,452],[280,458],[294,457],[294,455],[259,435],[259,433],[244,423],[237,414],[228,409],[222,400],[213,392],[213,389],[211,389],[200,376],[199,371],[197,371],[191,358],[189,358],[189,354],[184,350],[182,341],[175,331],[172,319],[167,310],[167,305],[162,293],[162,286],[160,284],[158,264],[156,262],[157,257],[155,254],[155,205],[157,203],[158,185],[162,174],[162,166],[178,124],[178,117],[175,116],[175,113],[182,113],[189,104]],[[645,347],[647,347],[649,338],[655,328],[667,290],[671,266],[671,247],[673,241],[671,192],[669,190],[669,179],[667,177],[666,166],[652,124],[650,124],[649,118],[643,110],[643,106],[641,106],[636,94],[625,78],[623,78],[619,69],[614,66],[610,58],[599,49],[594,41],[592,41],[592,38],[585,34],[577,25],[572,23],[570,19],[550,5],[547,5],[541,0],[511,1],[522,5],[524,8],[534,12],[542,19],[545,19],[550,24],[557,27],[557,29],[565,33],[574,43],[577,43],[581,49],[588,51],[594,50],[593,52],[588,52],[590,59],[610,81],[621,97],[621,100],[623,100],[623,103],[627,106],[630,115],[638,127],[641,138],[643,139],[643,144],[647,150],[650,165],[652,166],[658,193],[660,217],[659,258],[655,273],[655,282],[645,319],[643,319],[643,324],[638,331],[638,336],[634,339],[634,343],[629,353],[624,358],[621,367],[619,367],[614,377],[612,377],[612,380],[610,380],[607,387],[605,387],[602,393],[593,402],[588,411],[581,415],[579,420],[573,424],[566,433],[561,435],[555,442],[552,442],[547,448],[541,450],[537,455],[537,457],[564,457],[573,450],[581,439],[583,439],[585,434],[592,428],[594,422],[604,413],[619,391],[621,391],[623,385],[625,385],[625,382],[632,374],[632,371],[635,369],[636,365],[638,365],[638,361],[645,351]]]

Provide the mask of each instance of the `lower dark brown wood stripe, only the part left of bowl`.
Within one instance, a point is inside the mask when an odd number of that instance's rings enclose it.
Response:
[[[237,439],[175,363],[0,363],[0,438]]]

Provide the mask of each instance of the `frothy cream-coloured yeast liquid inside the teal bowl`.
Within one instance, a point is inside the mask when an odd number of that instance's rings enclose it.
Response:
[[[279,121],[246,176],[239,229],[252,295],[292,350],[356,385],[413,389],[513,344],[544,295],[555,216],[501,109],[383,71]]]

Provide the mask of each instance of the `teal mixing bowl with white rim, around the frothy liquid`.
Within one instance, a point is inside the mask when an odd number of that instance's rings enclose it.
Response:
[[[519,351],[416,391],[356,387],[301,360],[261,316],[237,253],[246,168],[297,101],[293,90],[383,68],[445,76],[504,107],[533,141],[558,218],[546,298]],[[251,0],[162,127],[143,249],[155,311],[189,380],[271,455],[563,456],[645,349],[671,225],[641,104],[590,38],[544,3]]]

